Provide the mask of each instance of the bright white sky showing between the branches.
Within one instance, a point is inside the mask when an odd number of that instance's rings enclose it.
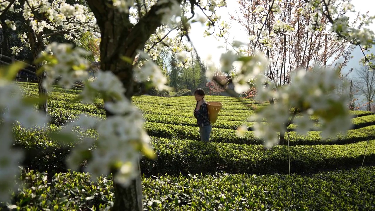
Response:
[[[354,5],[354,9],[356,12],[360,12],[361,14],[365,14],[369,11],[369,15],[375,15],[375,1],[373,0],[353,0],[352,4]],[[220,8],[217,14],[220,15],[221,19],[225,21],[225,23],[231,26],[230,33],[229,33],[229,40],[247,40],[248,37],[246,36],[245,30],[243,29],[240,24],[236,23],[235,21],[230,20],[229,14],[235,14],[235,8],[237,6],[236,0],[229,0],[227,1],[227,8]],[[354,14],[350,15],[350,17],[354,18]],[[371,29],[375,31],[375,24],[371,26]],[[193,23],[192,30],[190,33],[190,38],[195,46],[196,50],[200,54],[203,60],[206,60],[208,56],[211,57],[211,60],[216,64],[219,64],[219,59],[222,53],[225,53],[225,48],[218,48],[225,44],[223,38],[217,39],[214,36],[207,36],[204,37],[203,33],[205,30],[205,26],[202,26],[201,23]],[[375,51],[375,50],[374,50]],[[375,52],[374,52],[375,53]],[[348,62],[348,66],[346,67],[345,71],[348,71],[350,68],[356,68],[359,66],[359,60],[363,57],[363,54],[359,48],[356,48],[352,56],[354,58]]]

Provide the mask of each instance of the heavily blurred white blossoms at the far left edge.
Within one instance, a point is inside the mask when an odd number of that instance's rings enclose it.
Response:
[[[21,122],[31,128],[46,124],[48,118],[25,102],[21,89],[5,77],[0,77],[0,110],[0,201],[4,202],[9,199],[9,191],[17,187],[15,175],[19,175],[18,165],[23,159],[22,151],[13,148],[13,124]]]

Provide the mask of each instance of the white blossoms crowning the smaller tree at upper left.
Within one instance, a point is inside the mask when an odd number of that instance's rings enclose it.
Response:
[[[10,2],[10,1],[3,1]],[[17,0],[14,4],[20,4]],[[27,0],[24,5],[20,5],[21,9],[12,9],[11,12],[22,13],[26,23],[31,27],[35,36],[38,37],[38,42],[46,46],[49,44],[49,38],[61,32],[65,39],[75,42],[80,45],[80,35],[89,30],[92,32],[98,31],[95,17],[90,10],[80,4],[70,5],[65,0]],[[43,14],[42,20],[39,20],[34,14]],[[13,21],[6,20],[6,23],[15,30],[17,25]],[[12,53],[17,55],[24,48],[30,48],[29,39],[26,33],[20,34],[22,46],[13,46]],[[39,39],[40,38],[40,39]]]

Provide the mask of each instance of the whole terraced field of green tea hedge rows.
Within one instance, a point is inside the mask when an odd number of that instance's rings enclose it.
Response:
[[[28,95],[26,84],[20,84]],[[13,199],[21,210],[102,210],[113,200],[110,177],[93,183],[84,173],[66,173],[64,159],[73,146],[46,136],[81,113],[105,118],[101,99],[95,105],[67,104],[79,92],[56,88],[51,93],[48,128],[14,128],[16,144],[28,152],[24,164],[34,169],[25,172],[27,185]],[[36,84],[30,84],[30,93],[37,95]],[[290,125],[288,175],[287,146],[265,149],[251,131],[252,122],[246,122],[267,104],[223,96],[206,100],[223,103],[211,143],[199,141],[193,96],[133,97],[157,153],[156,160],[141,161],[145,210],[375,210],[374,113],[351,112],[352,130],[329,139],[319,131],[299,136],[293,131],[298,125]],[[249,131],[236,136],[245,122]]]

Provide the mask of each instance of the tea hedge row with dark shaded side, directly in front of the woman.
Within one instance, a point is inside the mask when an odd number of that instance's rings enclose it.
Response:
[[[26,130],[15,126],[18,147],[27,149],[24,165],[48,172],[64,172],[65,157],[71,145],[62,145],[47,136],[48,131],[59,130],[50,125],[48,129]],[[82,136],[95,137],[95,131]],[[183,173],[288,173],[288,148],[276,146],[265,149],[263,145],[226,143],[202,143],[196,140],[178,140],[151,137],[157,154],[156,160],[143,159],[142,172],[146,175]],[[368,144],[365,165],[375,164],[375,140],[348,145],[293,146],[290,148],[291,171],[314,173],[358,167],[363,161],[363,152]]]

